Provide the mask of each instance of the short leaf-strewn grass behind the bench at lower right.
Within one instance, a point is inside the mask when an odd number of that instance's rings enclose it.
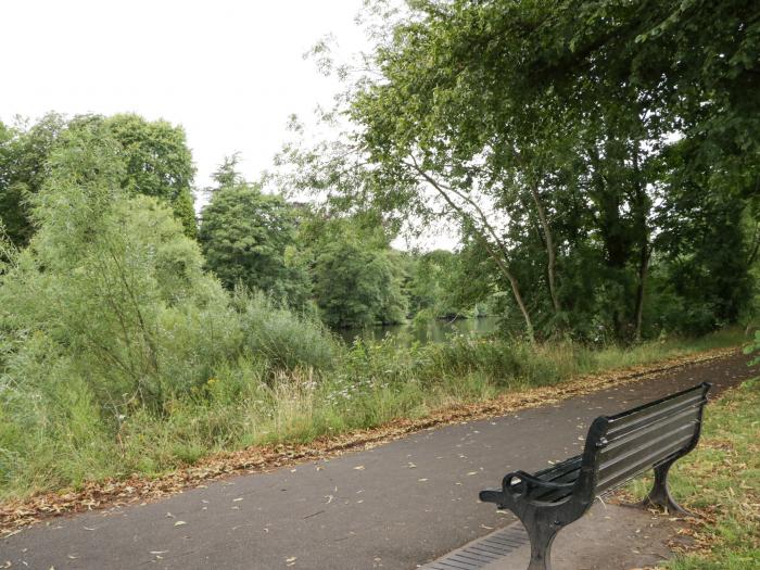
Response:
[[[649,481],[636,481],[643,497]],[[670,570],[760,568],[760,379],[745,382],[706,411],[702,439],[677,463],[673,494],[702,515],[697,548],[670,560]]]

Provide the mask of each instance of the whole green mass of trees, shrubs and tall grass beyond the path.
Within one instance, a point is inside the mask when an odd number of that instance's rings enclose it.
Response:
[[[200,220],[180,127],[0,124],[0,495],[377,426],[752,325],[753,3],[427,1],[381,26],[373,73],[337,109],[347,130],[288,147],[259,181],[227,159]],[[391,246],[434,223],[457,251]],[[441,345],[330,332],[483,312],[498,334]]]

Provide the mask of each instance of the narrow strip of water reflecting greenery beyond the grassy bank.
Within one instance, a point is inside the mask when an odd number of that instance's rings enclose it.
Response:
[[[427,327],[413,327],[411,324],[387,325],[367,327],[364,329],[342,329],[338,331],[340,337],[351,344],[354,339],[382,340],[385,337],[395,337],[402,344],[418,341],[421,344],[429,342],[445,342],[446,337],[456,332],[458,334],[486,334],[496,329],[497,317],[459,318],[455,320],[433,320]]]

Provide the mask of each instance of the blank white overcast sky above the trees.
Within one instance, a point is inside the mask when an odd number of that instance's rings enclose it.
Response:
[[[255,178],[339,89],[303,54],[366,48],[362,0],[0,0],[0,119],[135,112],[182,125],[198,186],[240,151]]]

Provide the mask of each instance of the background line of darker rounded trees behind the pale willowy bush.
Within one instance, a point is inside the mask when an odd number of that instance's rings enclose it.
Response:
[[[335,328],[466,316],[480,301],[459,296],[458,254],[397,251],[377,214],[328,217],[266,193],[243,179],[237,155],[214,173],[212,187],[193,189],[182,128],[137,115],[53,113],[34,124],[0,124],[0,220],[15,248],[25,248],[39,226],[34,208],[56,167],[53,156],[84,135],[110,147],[126,194],[154,197],[174,211],[185,233],[201,244],[206,268],[229,290],[262,291],[275,304]],[[199,193],[208,203],[197,220]]]

